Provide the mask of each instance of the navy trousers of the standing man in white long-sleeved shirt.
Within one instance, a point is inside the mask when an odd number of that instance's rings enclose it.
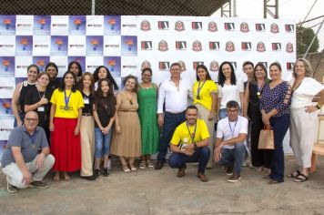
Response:
[[[160,145],[158,149],[157,160],[158,161],[165,161],[167,155],[167,148],[168,144],[171,141],[173,133],[178,125],[186,121],[186,114],[185,112],[173,114],[166,112],[164,117],[164,125],[162,129],[162,134],[160,138]]]

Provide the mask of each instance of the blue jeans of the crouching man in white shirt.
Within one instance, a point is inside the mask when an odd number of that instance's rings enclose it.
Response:
[[[234,148],[222,148],[221,158],[218,163],[225,167],[233,167],[233,171],[240,174],[243,160],[248,155],[247,148],[243,143],[237,143]]]

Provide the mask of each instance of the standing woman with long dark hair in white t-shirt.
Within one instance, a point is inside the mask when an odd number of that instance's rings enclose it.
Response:
[[[240,112],[243,109],[244,84],[237,80],[234,67],[228,61],[224,61],[219,67],[218,73],[218,117],[219,119],[228,117],[226,104],[228,101],[238,102]]]

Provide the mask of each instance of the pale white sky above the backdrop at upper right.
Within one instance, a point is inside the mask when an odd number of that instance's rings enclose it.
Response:
[[[232,0],[233,1],[233,0]],[[263,18],[263,0],[236,0],[238,17]],[[271,0],[270,3],[275,2]],[[315,0],[278,0],[279,18],[303,21]],[[324,0],[318,0],[310,12],[308,19],[324,15]],[[220,16],[220,11],[214,15]],[[271,17],[268,15],[268,17]]]

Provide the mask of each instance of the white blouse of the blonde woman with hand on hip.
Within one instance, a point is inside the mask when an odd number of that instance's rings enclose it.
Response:
[[[290,80],[290,86],[294,84],[295,79]],[[324,86],[311,77],[305,77],[299,87],[293,92],[290,107],[305,107],[313,105],[313,98]]]

